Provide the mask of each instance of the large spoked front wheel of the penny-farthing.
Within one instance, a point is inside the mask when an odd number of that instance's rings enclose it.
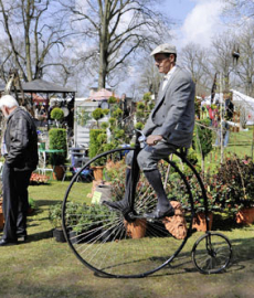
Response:
[[[177,158],[177,162],[168,160],[158,164],[166,193],[178,204],[173,220],[148,221],[142,216],[157,203],[155,191],[142,173],[134,207],[139,219],[128,221],[121,212],[102,204],[124,198],[127,153],[126,149],[105,152],[74,175],[64,198],[63,227],[71,248],[92,270],[114,277],[144,277],[169,264],[183,247],[191,230],[193,202]],[[95,164],[100,166],[102,181],[82,182],[84,170],[94,168],[95,171]],[[183,199],[186,209],[177,202]]]

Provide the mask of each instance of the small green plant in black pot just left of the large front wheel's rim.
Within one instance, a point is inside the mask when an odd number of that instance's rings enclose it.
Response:
[[[50,206],[49,220],[53,226],[53,237],[57,242],[66,242],[62,228],[62,203]]]

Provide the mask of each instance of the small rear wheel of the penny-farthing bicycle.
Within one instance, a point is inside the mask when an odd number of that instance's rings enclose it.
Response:
[[[230,240],[216,232],[207,232],[192,248],[192,262],[202,274],[224,272],[232,259],[233,249]]]

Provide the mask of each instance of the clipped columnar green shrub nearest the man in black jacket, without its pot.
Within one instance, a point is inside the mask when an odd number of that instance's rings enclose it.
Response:
[[[49,132],[50,149],[63,150],[63,152],[50,153],[52,166],[64,164],[67,152],[66,129],[52,128]]]

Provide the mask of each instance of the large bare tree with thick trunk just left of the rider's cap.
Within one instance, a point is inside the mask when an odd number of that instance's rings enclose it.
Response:
[[[169,20],[158,12],[156,0],[62,1],[92,44],[86,53],[98,61],[98,87],[113,81],[137,49],[150,50],[169,39]],[[73,23],[74,24],[74,23]],[[94,43],[95,41],[95,43]],[[91,55],[93,52],[95,55]],[[97,54],[97,56],[96,56]],[[87,57],[87,55],[86,55]],[[112,76],[112,77],[110,77]],[[112,82],[110,82],[112,83]]]

